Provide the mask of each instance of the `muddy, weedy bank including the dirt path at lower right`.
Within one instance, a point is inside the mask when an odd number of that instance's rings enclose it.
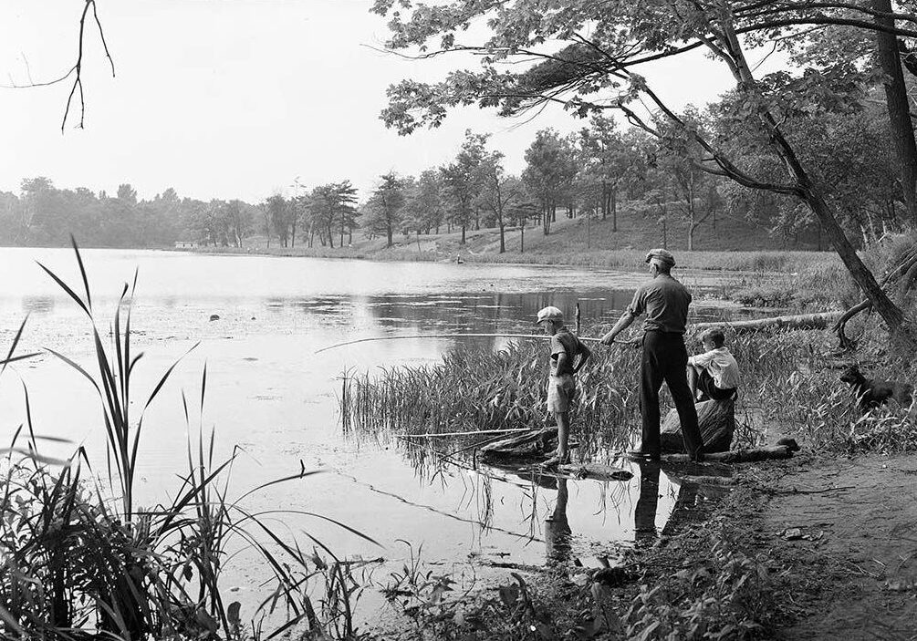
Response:
[[[374,638],[917,637],[917,455],[804,455],[736,479],[686,484],[633,548],[596,542],[608,570],[508,567]]]

